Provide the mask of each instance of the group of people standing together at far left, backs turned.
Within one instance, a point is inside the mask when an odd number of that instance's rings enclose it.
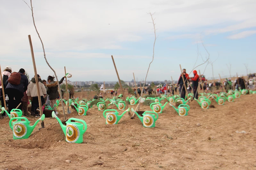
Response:
[[[59,81],[61,84],[65,77]],[[5,101],[8,108],[8,111],[11,112],[12,109],[17,108],[17,106],[23,112],[23,115],[29,116],[28,104],[29,100],[31,101],[31,116],[39,116],[38,114],[38,96],[37,96],[37,86],[35,76],[28,80],[25,75],[25,70],[21,68],[19,72],[12,72],[12,67],[7,66],[2,73],[3,84],[0,81],[0,92],[1,92],[1,105],[4,107],[4,97],[3,90],[5,94]],[[54,80],[54,76],[48,76],[47,81],[41,80],[41,77],[37,74],[37,80],[39,85],[40,98],[43,108],[45,106],[51,106],[56,110],[54,104],[56,103],[57,98],[59,98],[58,92],[58,83]],[[48,84],[47,84],[48,82]],[[55,112],[57,115],[58,112]],[[4,115],[1,115],[4,116]]]

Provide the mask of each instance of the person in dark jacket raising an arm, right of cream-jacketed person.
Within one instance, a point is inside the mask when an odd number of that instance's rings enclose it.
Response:
[[[59,81],[61,84],[65,77],[62,77],[62,79]],[[47,94],[49,96],[50,100],[50,106],[54,107],[54,104],[56,103],[57,98],[59,97],[58,92],[58,82],[54,81],[54,76],[48,76],[47,81],[49,84],[46,84],[47,87]],[[54,107],[54,110],[56,111],[56,107]],[[56,115],[58,115],[58,112],[55,112]]]

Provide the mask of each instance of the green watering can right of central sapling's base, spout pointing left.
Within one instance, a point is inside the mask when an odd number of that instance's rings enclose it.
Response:
[[[138,118],[143,124],[143,127],[145,128],[154,128],[155,127],[155,121],[158,119],[158,114],[156,112],[150,112],[150,111],[145,111],[142,113],[142,116],[140,116],[133,108],[131,109],[132,112],[136,113]]]

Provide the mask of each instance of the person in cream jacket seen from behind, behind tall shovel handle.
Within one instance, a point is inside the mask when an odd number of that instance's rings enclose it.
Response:
[[[38,78],[41,102],[42,102],[42,106],[43,106],[45,104],[44,97],[46,97],[46,89],[45,89],[45,85],[43,84],[43,82],[40,79],[40,76],[38,74],[37,74],[37,78]],[[37,85],[36,85],[35,76],[31,79],[31,81],[28,85],[27,96],[31,98],[31,105],[32,105],[31,106],[31,115],[38,116],[37,108],[39,107],[39,102],[38,102],[38,96],[37,96]]]

